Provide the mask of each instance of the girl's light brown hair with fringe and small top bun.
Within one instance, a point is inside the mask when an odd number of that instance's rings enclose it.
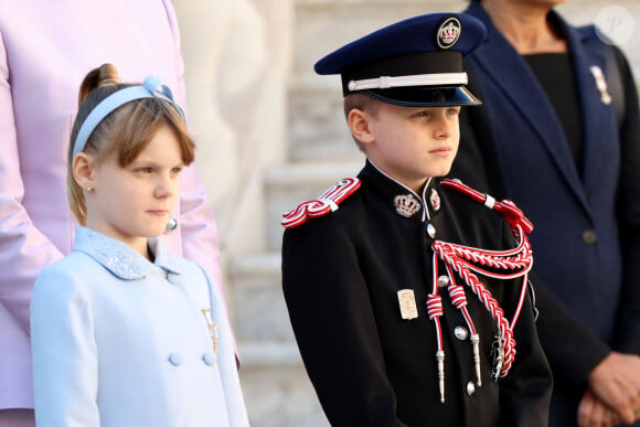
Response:
[[[71,134],[67,156],[67,196],[70,207],[81,225],[86,225],[86,201],[83,189],[73,177],[74,146],[79,129],[94,108],[108,96],[126,87],[111,64],[90,71],[83,79],[78,94],[78,111]],[[195,145],[181,113],[171,100],[148,97],[132,100],[108,114],[92,132],[82,150],[95,159],[96,166],[115,159],[119,167],[130,164],[149,145],[156,132],[168,126],[180,145],[182,162],[191,164]]]

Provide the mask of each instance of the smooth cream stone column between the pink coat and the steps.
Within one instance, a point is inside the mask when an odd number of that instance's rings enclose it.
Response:
[[[250,0],[174,2],[182,35],[191,129],[209,190],[221,249],[256,163],[260,88],[268,57],[263,17]]]

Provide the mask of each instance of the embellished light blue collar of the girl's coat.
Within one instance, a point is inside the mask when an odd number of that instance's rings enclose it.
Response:
[[[73,250],[87,254],[120,279],[142,279],[153,265],[172,274],[182,274],[182,259],[167,250],[158,237],[149,239],[149,249],[156,255],[153,264],[122,242],[87,227],[77,226],[75,229]]]

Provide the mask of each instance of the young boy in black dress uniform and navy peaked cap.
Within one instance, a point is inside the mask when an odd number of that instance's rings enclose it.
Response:
[[[291,324],[334,426],[546,426],[532,225],[509,201],[434,179],[456,156],[460,106],[479,104],[461,57],[484,34],[468,15],[420,15],[316,64],[341,74],[367,157],[282,221]]]

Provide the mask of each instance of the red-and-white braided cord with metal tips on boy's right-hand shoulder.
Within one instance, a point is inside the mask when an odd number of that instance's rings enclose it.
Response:
[[[480,380],[480,337],[476,331],[471,316],[467,310],[467,300],[462,286],[457,285],[456,275],[460,277],[473,293],[480,299],[482,305],[494,319],[499,335],[493,343],[493,372],[494,380],[504,377],[515,356],[515,340],[513,339],[513,328],[518,321],[524,297],[527,289],[527,276],[533,265],[531,245],[526,234],[533,229],[531,222],[524,216],[515,204],[511,201],[498,202],[488,194],[482,194],[458,180],[441,180],[440,186],[451,189],[471,200],[484,204],[487,207],[500,212],[511,229],[513,231],[516,247],[508,250],[486,250],[449,242],[435,241],[431,244],[434,249],[434,278],[433,291],[427,298],[427,310],[429,319],[436,324],[438,339],[438,351],[436,359],[438,362],[438,380],[440,384],[440,401],[445,401],[444,394],[444,345],[439,316],[444,313],[441,297],[438,295],[439,288],[447,287],[451,302],[458,308],[465,318],[469,331],[471,332],[471,344],[473,346],[473,361],[476,364],[477,385],[481,386]],[[445,264],[446,274],[438,274],[438,260]],[[503,273],[502,273],[503,271]],[[522,287],[518,306],[511,322],[505,319],[503,310],[491,292],[484,287],[478,275],[495,279],[522,278]]]

